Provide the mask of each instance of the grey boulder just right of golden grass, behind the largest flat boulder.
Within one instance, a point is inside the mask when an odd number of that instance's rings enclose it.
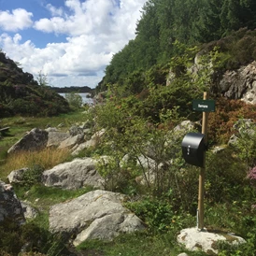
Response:
[[[103,188],[104,179],[96,171],[97,162],[92,158],[75,159],[58,164],[44,171],[42,182],[49,187],[74,190],[85,186]]]

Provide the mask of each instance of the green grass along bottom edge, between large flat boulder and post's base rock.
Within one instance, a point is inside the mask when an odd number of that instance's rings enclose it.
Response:
[[[206,255],[202,251],[188,251],[177,243],[176,233],[149,234],[139,232],[135,234],[119,235],[112,241],[91,240],[78,246],[78,251],[88,256],[176,256],[181,252],[188,252],[190,256]]]

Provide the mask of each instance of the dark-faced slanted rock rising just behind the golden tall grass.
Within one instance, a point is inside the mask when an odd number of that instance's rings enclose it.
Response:
[[[8,153],[17,153],[20,151],[35,151],[44,149],[48,142],[48,132],[38,128],[32,129],[24,135],[17,143],[15,143]]]

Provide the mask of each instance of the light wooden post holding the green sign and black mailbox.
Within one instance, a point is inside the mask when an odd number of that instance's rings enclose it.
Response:
[[[204,92],[204,100],[206,99],[207,99],[207,92]],[[205,144],[207,143],[207,122],[208,122],[208,112],[203,112],[202,134],[205,135]],[[200,175],[199,175],[197,228],[200,230],[204,229],[205,179],[206,179],[206,151],[204,152],[204,164],[203,164],[203,167],[201,167]]]

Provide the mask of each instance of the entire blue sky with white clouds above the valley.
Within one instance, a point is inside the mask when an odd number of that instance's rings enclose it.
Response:
[[[147,0],[0,0],[0,49],[50,86],[95,86]]]

